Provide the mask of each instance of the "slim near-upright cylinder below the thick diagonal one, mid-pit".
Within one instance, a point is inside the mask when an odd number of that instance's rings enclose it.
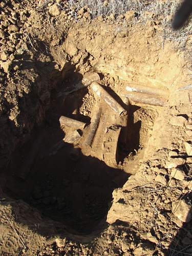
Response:
[[[95,134],[97,132],[97,127],[99,125],[100,116],[101,116],[102,108],[100,104],[95,104],[93,108],[93,117],[91,119],[91,124],[89,126],[89,134],[84,140],[84,145],[92,146]]]

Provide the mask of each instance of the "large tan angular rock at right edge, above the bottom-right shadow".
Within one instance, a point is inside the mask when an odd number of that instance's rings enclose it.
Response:
[[[172,203],[172,212],[182,222],[189,222],[192,219],[190,206],[183,200]]]

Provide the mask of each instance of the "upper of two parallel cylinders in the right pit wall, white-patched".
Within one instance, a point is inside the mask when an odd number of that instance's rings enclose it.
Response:
[[[146,86],[139,86],[138,84],[129,84],[125,88],[126,92],[136,92],[151,95],[163,95],[166,96],[167,92],[158,88],[151,88]]]

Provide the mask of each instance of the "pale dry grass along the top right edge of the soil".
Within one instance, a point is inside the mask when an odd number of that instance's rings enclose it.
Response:
[[[180,0],[69,0],[71,6],[75,6],[80,9],[84,6],[88,6],[93,18],[97,16],[109,16],[114,14],[117,17],[121,14],[125,14],[126,11],[134,10],[138,13],[134,22],[145,23],[147,20],[159,20],[163,28],[163,37],[166,40],[173,40],[176,42],[178,49],[185,50],[186,40],[191,34],[192,25],[184,26],[179,31],[173,31],[171,23],[172,17],[179,6]],[[146,15],[146,12],[154,13],[153,18],[150,15]],[[191,51],[187,50],[191,56]]]

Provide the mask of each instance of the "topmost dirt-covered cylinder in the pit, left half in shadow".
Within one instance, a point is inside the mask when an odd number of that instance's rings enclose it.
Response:
[[[100,81],[99,75],[94,72],[87,72],[86,74],[84,74],[81,81],[77,81],[73,84],[70,84],[68,87],[65,87],[65,89],[59,92],[58,97],[67,96],[70,93],[73,93],[75,91],[88,87],[94,81]]]

